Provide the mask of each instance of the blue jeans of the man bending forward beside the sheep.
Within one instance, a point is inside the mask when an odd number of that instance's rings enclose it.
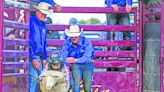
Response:
[[[71,69],[74,80],[73,92],[80,92],[80,79],[83,80],[84,91],[91,92],[94,64],[73,64]]]

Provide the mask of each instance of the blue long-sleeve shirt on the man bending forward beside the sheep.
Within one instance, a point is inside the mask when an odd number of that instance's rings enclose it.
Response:
[[[85,37],[81,37],[75,48],[71,39],[66,39],[62,48],[63,58],[74,57],[76,63],[89,63],[93,59],[92,43]]]

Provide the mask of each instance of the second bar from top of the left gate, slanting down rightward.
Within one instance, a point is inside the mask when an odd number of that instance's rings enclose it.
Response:
[[[29,30],[29,24],[19,23],[19,22],[10,21],[10,20],[4,20],[4,26]]]

